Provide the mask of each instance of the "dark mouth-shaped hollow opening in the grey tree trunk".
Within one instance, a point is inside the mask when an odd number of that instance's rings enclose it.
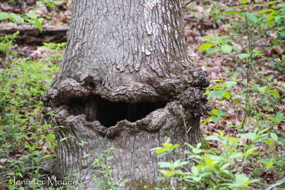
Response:
[[[87,101],[75,101],[71,105],[70,112],[75,116],[80,114],[86,115],[86,120],[93,122],[99,121],[101,125],[109,128],[115,126],[118,121],[128,120],[135,122],[150,114],[150,112],[164,108],[166,102],[157,101],[155,103],[125,103],[111,102],[102,99],[98,95],[91,96]]]

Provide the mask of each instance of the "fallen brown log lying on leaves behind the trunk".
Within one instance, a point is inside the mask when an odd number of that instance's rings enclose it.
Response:
[[[62,26],[43,25],[42,32],[35,26],[29,24],[13,24],[13,23],[0,23],[0,36],[6,34],[13,34],[19,30],[20,34],[17,35],[16,43],[26,43],[33,45],[42,45],[43,42],[61,43],[66,42],[66,32],[69,29],[69,24]]]

